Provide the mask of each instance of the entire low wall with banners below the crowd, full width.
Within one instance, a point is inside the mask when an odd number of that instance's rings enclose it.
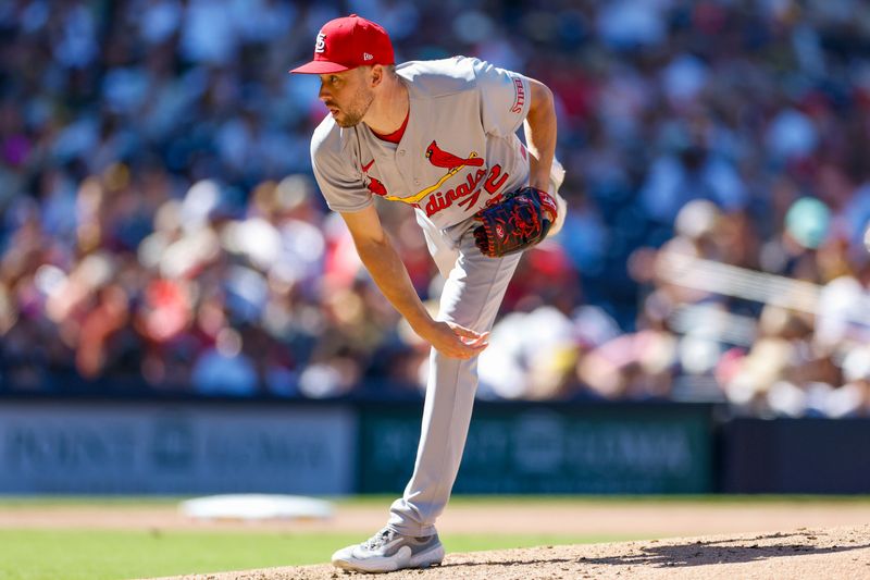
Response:
[[[870,420],[477,403],[456,493],[870,493]],[[724,410],[724,409],[720,409]],[[399,493],[422,402],[0,398],[0,493]]]

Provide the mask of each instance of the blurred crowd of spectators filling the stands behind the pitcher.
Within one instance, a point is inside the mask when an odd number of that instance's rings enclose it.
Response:
[[[318,78],[287,74],[351,12],[399,61],[556,95],[571,210],[521,262],[480,397],[870,416],[860,0],[2,2],[0,391],[420,396],[427,347],[311,177]]]

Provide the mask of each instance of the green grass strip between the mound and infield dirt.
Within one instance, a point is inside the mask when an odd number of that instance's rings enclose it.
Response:
[[[115,580],[327,563],[359,534],[0,530],[2,580]],[[577,535],[451,534],[450,552],[629,540]]]

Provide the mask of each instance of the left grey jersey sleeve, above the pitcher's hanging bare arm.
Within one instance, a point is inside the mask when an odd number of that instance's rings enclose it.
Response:
[[[373,203],[372,193],[363,185],[350,156],[341,150],[340,134],[321,125],[311,139],[311,168],[330,209],[351,212]]]

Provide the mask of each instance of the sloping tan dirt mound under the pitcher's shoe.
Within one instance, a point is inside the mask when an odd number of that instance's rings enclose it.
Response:
[[[178,580],[363,580],[331,566]],[[870,526],[449,554],[443,566],[385,580],[870,579]]]

